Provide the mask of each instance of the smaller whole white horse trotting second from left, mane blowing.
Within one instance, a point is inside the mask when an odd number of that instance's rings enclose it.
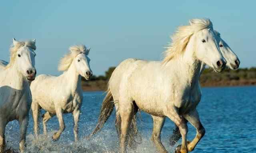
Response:
[[[65,129],[62,114],[73,113],[74,136],[75,141],[78,140],[78,120],[83,101],[81,77],[89,79],[92,76],[88,58],[89,51],[90,49],[86,49],[85,46],[70,47],[70,53],[60,60],[58,67],[58,70],[64,71],[62,75],[57,77],[39,75],[31,83],[33,99],[31,108],[36,138],[38,138],[38,113],[42,108],[46,110],[46,113],[42,115],[44,134],[47,133],[46,122],[57,115],[60,129],[54,133],[52,140],[58,140]]]

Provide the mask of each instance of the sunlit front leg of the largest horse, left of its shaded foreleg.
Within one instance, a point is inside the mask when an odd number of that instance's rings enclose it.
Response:
[[[175,153],[188,153],[188,148],[187,148],[188,126],[186,124],[184,117],[178,114],[178,108],[174,106],[166,107],[165,114],[179,127],[180,134],[182,137],[181,148],[176,150]]]

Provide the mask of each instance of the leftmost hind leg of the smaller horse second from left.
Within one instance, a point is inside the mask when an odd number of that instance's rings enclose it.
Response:
[[[38,113],[39,113],[38,103],[32,101],[31,110],[32,110],[32,117],[34,120],[34,134],[36,136],[36,139],[38,139]]]

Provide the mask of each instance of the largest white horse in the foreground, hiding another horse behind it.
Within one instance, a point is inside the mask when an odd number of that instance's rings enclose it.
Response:
[[[201,99],[198,77],[202,62],[216,72],[222,72],[226,65],[218,43],[210,20],[193,19],[190,25],[178,28],[162,62],[137,59],[121,62],[110,77],[98,125],[92,134],[103,126],[115,105],[120,149],[125,152],[129,132],[136,134],[134,115],[140,109],[156,116],[154,122],[163,124],[164,117],[174,121],[182,135],[182,146],[177,152],[192,151],[205,133],[196,111]],[[196,137],[188,144],[185,119],[197,130]],[[154,129],[160,131],[161,127]],[[153,132],[154,138],[160,137],[156,134]],[[133,135],[130,133],[129,137]],[[167,152],[160,139],[154,143],[160,152]]]

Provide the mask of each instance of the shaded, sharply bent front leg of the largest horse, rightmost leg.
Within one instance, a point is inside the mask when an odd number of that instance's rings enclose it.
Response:
[[[194,111],[190,111],[189,113],[184,115],[184,117],[196,128],[196,137],[188,144],[188,151],[192,151],[196,147],[196,144],[204,136],[205,129],[200,122],[199,115],[196,109],[194,109]]]

